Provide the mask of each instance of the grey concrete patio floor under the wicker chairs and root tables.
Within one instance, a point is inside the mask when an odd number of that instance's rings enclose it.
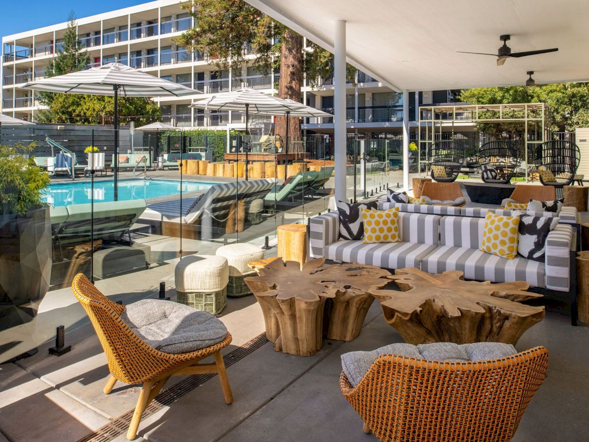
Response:
[[[586,214],[584,214],[586,215]],[[155,249],[177,250],[175,239],[148,238]],[[174,243],[172,243],[174,242]],[[256,242],[254,242],[256,243]],[[257,243],[261,244],[260,238]],[[201,242],[185,242],[190,252],[206,253]],[[209,244],[208,247],[214,245]],[[275,248],[267,256],[275,254]],[[162,255],[164,256],[165,253]],[[130,304],[154,298],[160,281],[174,300],[174,265],[166,256],[148,271],[97,281],[115,301]],[[589,326],[570,326],[566,308],[548,299],[545,318],[529,329],[516,348],[544,345],[550,351],[548,376],[527,408],[515,441],[584,441],[589,439]],[[230,351],[264,331],[262,312],[253,296],[229,299],[220,316],[233,335]],[[104,354],[71,289],[49,292],[39,309],[38,342],[52,338],[55,326],[67,328],[72,351],[49,356],[53,342],[38,354],[0,365],[0,442],[69,441],[88,436],[132,410],[138,387],[117,383],[110,395]],[[312,357],[274,352],[267,342],[228,369],[234,403],[226,405],[217,378],[204,382],[145,418],[139,440],[358,441],[376,440],[362,431],[362,421],[339,391],[340,355],[403,342],[382,318],[378,302],[366,316],[360,336],[351,342],[325,341]],[[169,385],[182,380],[170,381]],[[126,440],[124,434],[114,440]]]

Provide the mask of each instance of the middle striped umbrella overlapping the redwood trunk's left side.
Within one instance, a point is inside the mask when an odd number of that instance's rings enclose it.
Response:
[[[299,110],[306,107],[293,100],[273,97],[252,88],[242,88],[233,92],[213,95],[210,98],[203,98],[195,101],[190,107],[204,110],[226,110],[246,113],[246,136],[249,135],[249,114],[250,111],[260,115],[282,115],[287,112]],[[288,121],[288,120],[286,120]],[[287,132],[288,134],[288,132]],[[288,139],[288,136],[286,137]],[[249,147],[246,147],[246,164]],[[246,167],[247,180],[247,167]]]

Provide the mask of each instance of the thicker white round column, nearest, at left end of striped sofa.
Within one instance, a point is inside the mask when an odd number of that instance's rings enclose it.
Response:
[[[333,81],[335,199],[346,201],[346,22],[336,20]]]

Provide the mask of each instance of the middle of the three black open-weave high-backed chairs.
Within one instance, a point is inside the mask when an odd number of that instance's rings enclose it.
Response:
[[[497,140],[484,143],[477,154],[484,183],[509,184],[519,167],[519,149],[515,141]]]

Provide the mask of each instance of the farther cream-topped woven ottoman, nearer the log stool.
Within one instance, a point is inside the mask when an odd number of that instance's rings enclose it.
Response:
[[[251,295],[247,284],[243,281],[247,276],[256,275],[247,266],[248,262],[264,258],[264,250],[247,243],[236,243],[221,246],[217,249],[217,256],[223,256],[229,264],[229,283],[227,283],[227,296],[239,298],[240,296]]]

